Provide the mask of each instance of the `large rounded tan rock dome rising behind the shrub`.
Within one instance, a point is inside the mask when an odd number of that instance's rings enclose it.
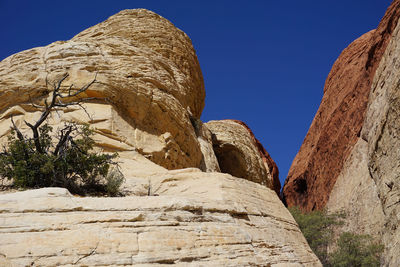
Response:
[[[204,106],[202,74],[190,39],[168,20],[144,9],[124,10],[70,41],[4,59],[0,136],[9,131],[10,115],[20,125],[38,115],[30,102],[43,101],[64,73],[66,88],[80,88],[97,73],[82,95],[98,98],[88,103],[93,118],[81,110],[62,117],[90,123],[106,151],[136,150],[168,169],[200,166],[190,116],[199,118]]]

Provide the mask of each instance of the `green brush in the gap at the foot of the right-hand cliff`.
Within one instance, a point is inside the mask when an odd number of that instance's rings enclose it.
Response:
[[[337,249],[328,254],[328,246],[334,245],[333,227],[342,224],[343,213],[328,214],[326,211],[303,213],[297,207],[289,208],[289,211],[323,266],[379,266],[383,246],[374,242],[368,235],[344,232],[336,244]]]

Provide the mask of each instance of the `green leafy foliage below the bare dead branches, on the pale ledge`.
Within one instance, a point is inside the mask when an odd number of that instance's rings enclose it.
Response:
[[[58,138],[53,139],[51,132],[47,124],[39,128],[39,152],[34,138],[17,138],[13,130],[8,145],[0,154],[0,179],[11,180],[13,186],[19,188],[57,186],[81,195],[118,194],[123,176],[117,169],[109,174],[117,154],[92,152],[93,132],[87,125],[67,125]],[[61,142],[64,136],[69,138]]]

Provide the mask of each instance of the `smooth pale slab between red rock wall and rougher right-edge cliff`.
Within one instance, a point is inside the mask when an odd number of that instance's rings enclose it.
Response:
[[[344,211],[347,215],[344,225],[337,227],[337,233],[369,234],[381,240],[385,215],[377,187],[368,171],[368,143],[365,140],[358,139],[344,163],[326,209],[331,213]]]

